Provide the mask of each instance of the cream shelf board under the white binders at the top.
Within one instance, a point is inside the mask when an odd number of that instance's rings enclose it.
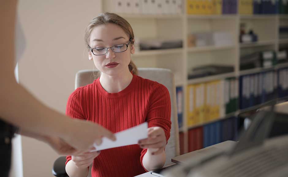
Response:
[[[143,18],[155,18],[155,19],[181,19],[183,14],[119,14],[123,18],[143,19]]]

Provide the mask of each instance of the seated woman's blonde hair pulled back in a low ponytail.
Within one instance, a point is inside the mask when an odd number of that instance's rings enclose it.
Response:
[[[134,44],[133,29],[132,29],[131,25],[127,22],[127,20],[125,20],[124,18],[122,18],[121,16],[119,16],[115,13],[101,13],[100,15],[95,17],[93,20],[91,20],[85,29],[84,40],[85,40],[85,45],[86,45],[86,48],[88,49],[88,51],[90,49],[90,47],[89,47],[90,34],[91,34],[91,31],[93,30],[93,28],[97,27],[99,25],[104,25],[104,24],[108,24],[108,23],[116,24],[119,27],[121,27],[124,30],[124,32],[128,35],[129,39],[131,38],[131,40],[130,40],[131,45]],[[138,74],[138,69],[132,60],[130,61],[128,68],[132,74],[135,74],[135,75]],[[99,76],[99,74],[98,74],[98,76]]]

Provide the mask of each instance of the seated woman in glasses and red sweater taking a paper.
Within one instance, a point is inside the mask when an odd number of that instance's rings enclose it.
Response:
[[[116,14],[103,13],[89,23],[85,43],[100,78],[70,95],[66,114],[111,132],[148,122],[148,138],[139,145],[67,156],[70,177],[86,176],[91,163],[93,177],[135,176],[165,163],[171,129],[169,92],[164,85],[137,76],[131,60],[134,41],[130,24]]]

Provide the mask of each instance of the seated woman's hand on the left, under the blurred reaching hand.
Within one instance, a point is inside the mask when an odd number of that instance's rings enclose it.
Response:
[[[77,156],[71,156],[72,161],[74,164],[80,168],[84,169],[89,167],[90,164],[93,163],[94,159],[100,154],[100,151],[95,151],[95,152],[85,152],[82,154],[79,154]]]

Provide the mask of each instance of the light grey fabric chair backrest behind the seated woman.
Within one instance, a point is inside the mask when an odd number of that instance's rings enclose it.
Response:
[[[80,70],[76,74],[75,88],[88,85],[92,83],[97,75],[98,70]],[[166,162],[165,166],[172,164],[171,158],[180,154],[179,149],[179,131],[178,131],[178,117],[176,107],[176,87],[174,81],[174,74],[169,69],[163,68],[138,68],[138,75],[142,78],[156,81],[165,85],[168,89],[171,98],[171,131],[170,139],[165,148]]]

